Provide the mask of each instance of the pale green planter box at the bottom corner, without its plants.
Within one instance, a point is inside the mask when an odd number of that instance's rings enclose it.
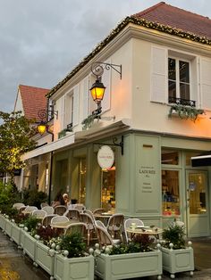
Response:
[[[55,254],[55,279],[57,280],[93,280],[94,257],[65,258]]]

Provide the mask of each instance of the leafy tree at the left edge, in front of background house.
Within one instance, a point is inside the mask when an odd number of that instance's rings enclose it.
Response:
[[[33,120],[26,119],[21,111],[0,111],[0,172],[8,173],[13,183],[14,170],[24,167],[21,155],[35,147]]]

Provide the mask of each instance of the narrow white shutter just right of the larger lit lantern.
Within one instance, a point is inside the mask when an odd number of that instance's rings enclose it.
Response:
[[[106,62],[105,62],[106,63]],[[107,62],[110,63],[110,62]],[[102,105],[102,111],[110,110],[111,104],[110,104],[110,97],[111,97],[111,71],[112,70],[104,70],[104,73],[102,75],[102,83],[104,84],[105,88],[105,94],[104,99],[101,103]]]

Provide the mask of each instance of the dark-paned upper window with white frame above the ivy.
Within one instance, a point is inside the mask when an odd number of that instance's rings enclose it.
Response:
[[[168,96],[170,103],[190,101],[190,62],[168,58]]]

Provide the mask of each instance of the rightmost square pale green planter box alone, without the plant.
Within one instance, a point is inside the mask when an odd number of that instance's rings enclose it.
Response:
[[[190,271],[190,276],[193,275],[194,257],[193,249],[190,247],[186,249],[173,250],[165,247],[161,248],[163,256],[163,269],[171,273],[171,278],[177,272]]]

